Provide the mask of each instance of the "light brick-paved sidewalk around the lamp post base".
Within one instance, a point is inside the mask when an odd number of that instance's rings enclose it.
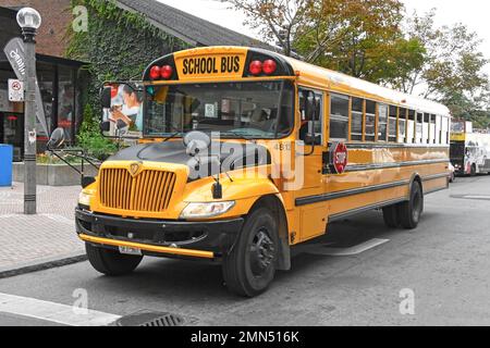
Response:
[[[38,186],[38,214],[24,210],[23,184],[0,188],[0,278],[85,260],[74,209],[79,186]]]

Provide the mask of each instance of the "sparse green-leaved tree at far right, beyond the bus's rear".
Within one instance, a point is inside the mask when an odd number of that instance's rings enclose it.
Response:
[[[400,76],[394,85],[440,101],[454,117],[475,119],[482,126],[489,100],[489,76],[485,73],[489,61],[480,51],[481,40],[462,23],[437,27],[434,16],[436,10],[431,10],[407,18],[406,34],[425,46],[425,63],[408,76]]]

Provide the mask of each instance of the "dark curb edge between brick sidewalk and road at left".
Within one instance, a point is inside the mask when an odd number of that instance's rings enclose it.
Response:
[[[56,257],[51,259],[44,259],[42,261],[33,261],[30,263],[25,263],[22,265],[15,265],[10,268],[0,269],[0,279],[10,278],[17,275],[23,275],[27,273],[35,273],[39,271],[46,271],[56,268],[62,268],[64,265],[84,262],[87,260],[87,256],[81,252]]]

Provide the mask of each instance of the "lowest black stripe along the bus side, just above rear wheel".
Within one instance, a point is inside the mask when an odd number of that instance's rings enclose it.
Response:
[[[443,178],[446,176],[448,176],[448,174],[445,174],[445,173],[426,176],[422,178],[422,182],[434,181],[434,179]],[[388,184],[379,184],[379,185],[371,185],[371,186],[366,186],[366,187],[346,189],[343,191],[335,191],[335,192],[330,192],[330,194],[302,197],[302,198],[296,198],[295,204],[296,204],[296,207],[309,206],[309,204],[320,203],[320,202],[324,202],[324,201],[329,201],[329,200],[333,200],[333,199],[345,198],[345,197],[351,197],[351,196],[356,196],[356,195],[380,191],[380,190],[384,190],[384,189],[389,189],[389,188],[401,187],[401,186],[408,185],[409,183],[411,183],[409,179],[408,181],[400,181],[400,182],[393,182],[393,183],[388,183]]]

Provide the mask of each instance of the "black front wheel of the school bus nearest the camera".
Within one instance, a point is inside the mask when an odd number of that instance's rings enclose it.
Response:
[[[223,260],[223,279],[230,291],[254,297],[266,291],[275,274],[279,237],[272,212],[260,208],[245,221],[238,240]]]

